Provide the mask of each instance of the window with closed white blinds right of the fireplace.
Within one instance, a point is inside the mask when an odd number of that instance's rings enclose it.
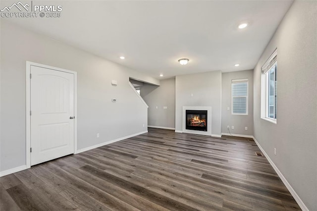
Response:
[[[232,114],[248,114],[248,79],[231,80]]]

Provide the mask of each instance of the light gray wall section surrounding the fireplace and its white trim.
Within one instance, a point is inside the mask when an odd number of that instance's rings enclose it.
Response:
[[[211,106],[211,134],[221,135],[221,71],[176,76],[175,87],[175,130],[182,130],[182,106]]]

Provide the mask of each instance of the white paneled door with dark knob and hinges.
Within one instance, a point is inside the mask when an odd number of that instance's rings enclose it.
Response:
[[[31,165],[74,153],[74,74],[31,66]]]

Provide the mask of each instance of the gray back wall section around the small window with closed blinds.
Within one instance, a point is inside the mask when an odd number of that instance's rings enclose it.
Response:
[[[249,80],[248,115],[233,115],[231,114],[231,80],[242,78]],[[229,125],[231,134],[253,135],[253,70],[222,73],[221,95],[221,132],[229,133],[227,129]],[[227,107],[230,110],[227,110]],[[234,129],[231,126],[234,126]],[[245,127],[248,127],[248,130],[245,130]]]

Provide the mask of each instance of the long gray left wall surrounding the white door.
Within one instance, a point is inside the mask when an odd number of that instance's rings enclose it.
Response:
[[[27,60],[77,72],[78,149],[147,130],[147,107],[128,82],[133,77],[159,84],[157,79],[3,20],[0,33],[0,171],[26,164]],[[111,86],[111,80],[118,85]]]

